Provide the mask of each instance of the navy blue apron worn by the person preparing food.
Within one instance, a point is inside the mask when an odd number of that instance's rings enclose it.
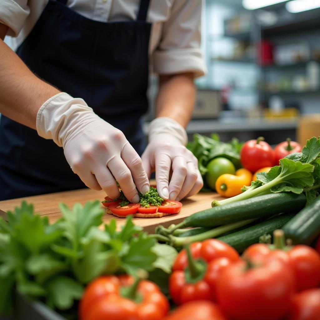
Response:
[[[137,20],[119,22],[85,18],[66,2],[48,2],[17,54],[37,76],[83,98],[141,155],[146,145],[141,117],[148,108],[149,0],[140,1]],[[1,116],[0,200],[84,187],[62,148]]]

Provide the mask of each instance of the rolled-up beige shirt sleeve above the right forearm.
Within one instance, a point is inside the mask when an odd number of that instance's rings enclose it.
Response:
[[[201,44],[202,0],[175,0],[169,20],[153,53],[153,70],[158,74],[206,72]]]

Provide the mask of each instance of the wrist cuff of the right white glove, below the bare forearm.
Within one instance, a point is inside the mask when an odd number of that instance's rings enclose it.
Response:
[[[184,146],[188,142],[186,130],[172,118],[158,117],[150,122],[149,142],[162,134],[169,135],[170,139],[176,139]]]

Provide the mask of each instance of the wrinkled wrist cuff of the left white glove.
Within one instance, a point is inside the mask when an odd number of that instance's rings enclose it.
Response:
[[[79,112],[93,113],[81,98],[73,98],[66,92],[60,92],[41,106],[37,113],[36,130],[45,139],[52,139],[59,147],[63,146],[68,134],[68,124],[76,120]]]

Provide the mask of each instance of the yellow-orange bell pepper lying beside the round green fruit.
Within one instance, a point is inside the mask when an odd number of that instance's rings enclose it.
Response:
[[[250,186],[252,173],[247,169],[239,169],[235,174],[222,174],[216,181],[216,191],[227,198],[239,195],[243,186]]]

